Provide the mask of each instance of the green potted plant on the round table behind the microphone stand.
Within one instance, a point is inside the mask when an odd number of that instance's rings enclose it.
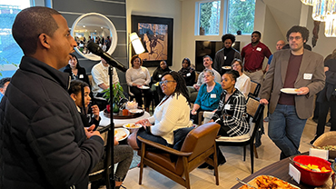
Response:
[[[118,113],[119,112],[119,107],[122,105],[120,104],[120,102],[125,99],[126,97],[124,96],[124,89],[122,87],[122,85],[120,85],[119,83],[116,83],[114,85],[112,85],[112,90],[114,95],[113,97],[113,108],[114,108],[114,113]],[[107,100],[107,102],[110,103],[111,101],[111,94],[110,94],[110,88],[106,89],[103,91],[103,93],[105,93],[103,95],[103,97]],[[107,105],[108,107],[106,107],[106,110],[109,112],[109,104]]]

